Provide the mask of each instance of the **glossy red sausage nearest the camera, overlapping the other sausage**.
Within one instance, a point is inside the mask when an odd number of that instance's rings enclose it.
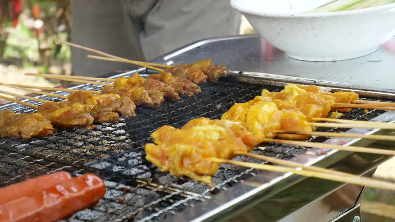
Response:
[[[103,180],[87,173],[0,206],[0,222],[56,222],[93,205],[104,194]]]

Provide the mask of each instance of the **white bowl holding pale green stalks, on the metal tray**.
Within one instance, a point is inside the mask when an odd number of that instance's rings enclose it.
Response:
[[[230,0],[265,40],[298,60],[357,58],[376,51],[395,34],[395,3],[302,13],[312,9],[314,2],[319,6],[318,0]]]

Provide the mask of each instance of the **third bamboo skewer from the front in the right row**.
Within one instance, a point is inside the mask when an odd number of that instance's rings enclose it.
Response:
[[[342,146],[342,145],[333,145],[333,144],[327,144],[327,143],[293,141],[293,140],[286,140],[286,139],[264,139],[263,142],[280,143],[280,144],[288,144],[288,145],[296,145],[296,146],[312,147],[312,148],[320,148],[320,149],[331,149],[331,150],[340,150],[340,151],[349,151],[349,152],[364,152],[364,153],[395,156],[395,151],[385,150],[385,149],[368,148],[368,147]]]

